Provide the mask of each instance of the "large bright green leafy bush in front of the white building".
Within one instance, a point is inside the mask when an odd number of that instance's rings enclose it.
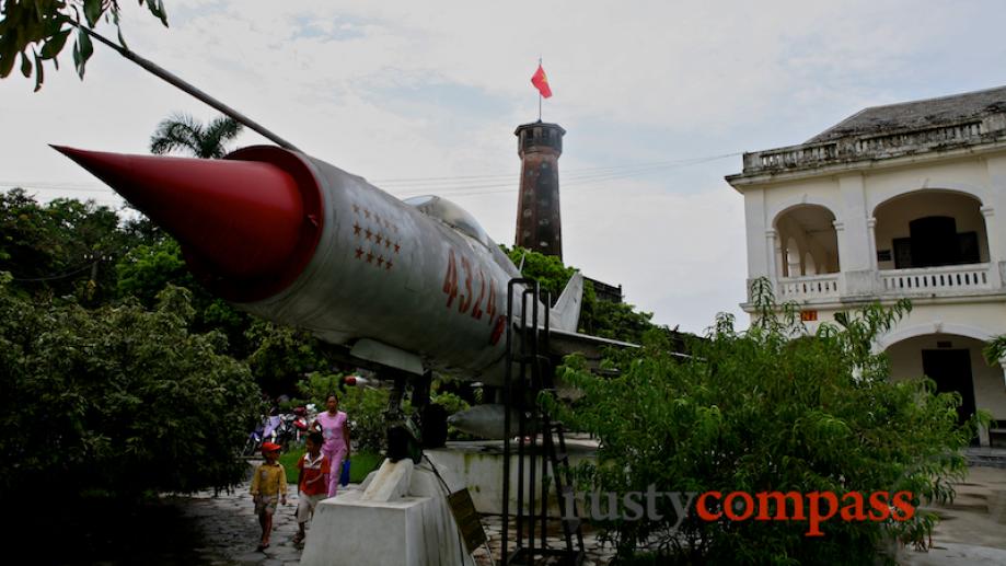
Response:
[[[578,470],[583,488],[831,490],[840,500],[852,490],[907,490],[915,505],[952,498],[949,480],[965,470],[961,450],[987,416],[959,426],[958,394],[936,394],[930,380],[888,379],[886,357],[869,346],[909,305],[867,307],[794,339],[802,327],[793,309],[779,309],[759,286],[755,324],[737,333],[720,315],[707,339],[691,340],[690,358],[649,334],[643,348],[613,354],[614,379],[568,360],[562,378],[585,397],[575,412],[542,402],[601,441],[597,463]],[[834,519],[822,524],[824,536],[807,538],[805,521],[690,516],[673,533],[672,508],[661,512],[663,521],[604,524],[620,555],[657,541],[659,564],[869,564],[890,536],[924,543],[934,524],[927,513],[904,523]]]

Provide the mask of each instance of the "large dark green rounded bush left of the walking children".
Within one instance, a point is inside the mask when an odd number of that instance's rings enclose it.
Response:
[[[193,334],[190,296],[157,310],[30,302],[0,281],[0,498],[192,492],[243,480],[247,368]],[[54,488],[58,486],[58,489]]]

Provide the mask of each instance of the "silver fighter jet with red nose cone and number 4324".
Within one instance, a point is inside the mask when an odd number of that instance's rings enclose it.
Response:
[[[172,234],[210,292],[316,335],[396,390],[412,380],[428,391],[433,372],[502,385],[507,289],[520,272],[470,213],[438,196],[400,200],[83,31],[280,146],[222,160],[54,146]],[[523,290],[512,287],[512,321],[534,308]],[[537,303],[539,312],[548,309],[547,354],[598,359],[603,347],[632,347],[576,332],[582,290],[576,274],[554,305]]]

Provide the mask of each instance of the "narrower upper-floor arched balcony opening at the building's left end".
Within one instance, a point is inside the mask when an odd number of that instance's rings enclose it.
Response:
[[[798,205],[774,222],[776,277],[783,300],[839,294],[839,236],[835,215],[819,205]]]

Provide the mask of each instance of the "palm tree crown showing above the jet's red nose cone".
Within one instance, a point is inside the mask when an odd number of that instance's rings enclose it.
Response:
[[[161,120],[150,137],[150,152],[162,155],[181,150],[201,159],[220,159],[227,143],[238,137],[242,125],[230,116],[213,118],[207,126],[188,114],[173,114]]]

